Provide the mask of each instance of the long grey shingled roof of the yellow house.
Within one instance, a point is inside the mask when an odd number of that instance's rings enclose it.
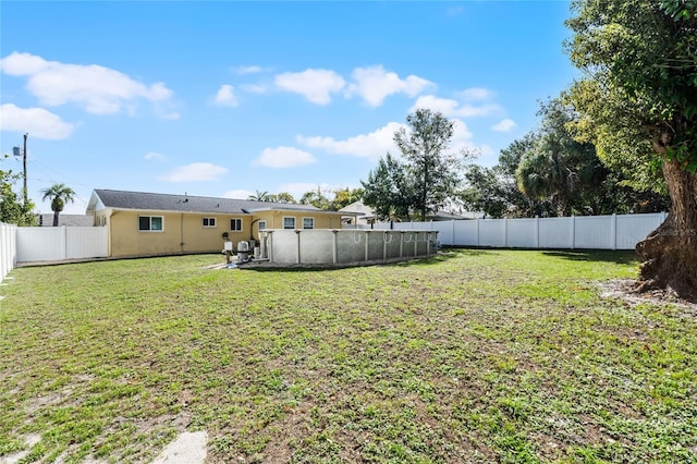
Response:
[[[327,212],[313,205],[293,205],[288,203],[254,202],[249,199],[217,198],[193,195],[171,195],[145,192],[125,192],[95,190],[87,211],[103,208],[133,209],[142,211],[176,211],[248,215],[255,211],[288,210],[307,212]]]

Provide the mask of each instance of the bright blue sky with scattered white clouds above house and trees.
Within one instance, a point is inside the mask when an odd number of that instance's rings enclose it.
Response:
[[[566,1],[0,3],[1,144],[29,196],[357,187],[416,108],[496,163],[577,72]],[[22,170],[19,161],[3,168]],[[19,188],[17,188],[19,191]]]

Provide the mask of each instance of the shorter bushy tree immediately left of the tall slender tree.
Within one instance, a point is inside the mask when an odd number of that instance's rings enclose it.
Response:
[[[408,167],[389,152],[368,174],[363,185],[363,203],[375,210],[380,220],[411,220],[417,203],[416,187]]]

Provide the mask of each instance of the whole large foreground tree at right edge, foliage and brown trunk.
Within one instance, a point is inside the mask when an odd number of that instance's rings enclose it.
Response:
[[[575,130],[603,161],[650,182],[660,167],[667,220],[641,243],[639,290],[697,300],[697,2],[582,0],[566,44],[587,78],[570,90]]]

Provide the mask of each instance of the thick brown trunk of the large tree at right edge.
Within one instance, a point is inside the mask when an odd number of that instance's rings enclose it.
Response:
[[[672,206],[665,221],[636,246],[644,257],[638,291],[671,289],[697,302],[697,174],[663,161]]]

